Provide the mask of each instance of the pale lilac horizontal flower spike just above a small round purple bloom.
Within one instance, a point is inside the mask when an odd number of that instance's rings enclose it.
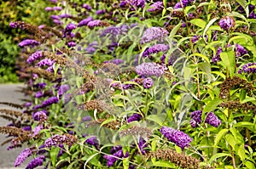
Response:
[[[143,63],[137,65],[135,71],[140,76],[162,76],[165,72],[165,67],[156,63]]]

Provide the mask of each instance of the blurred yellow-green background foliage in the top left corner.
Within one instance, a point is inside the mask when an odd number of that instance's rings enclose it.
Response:
[[[20,48],[17,44],[27,37],[24,31],[11,29],[9,22],[22,20],[32,25],[50,25],[49,14],[44,12],[48,5],[49,1],[41,0],[0,1],[0,83],[18,82],[15,59]]]

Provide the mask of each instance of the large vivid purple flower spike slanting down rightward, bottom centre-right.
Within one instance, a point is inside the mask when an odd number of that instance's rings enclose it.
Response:
[[[192,142],[192,138],[181,132],[170,127],[161,127],[160,132],[172,143],[176,144],[181,149],[189,147],[189,143]]]

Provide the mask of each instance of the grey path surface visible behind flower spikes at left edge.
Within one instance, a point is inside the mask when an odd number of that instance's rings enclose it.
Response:
[[[20,87],[23,87],[23,84],[0,84],[0,102],[11,102],[15,104],[20,104],[21,103],[20,99],[25,99],[25,96],[23,93],[15,92],[16,90],[19,90]],[[9,106],[0,104],[0,109],[6,109],[6,108],[9,108]],[[9,124],[9,121],[6,121],[0,117],[0,126],[3,127],[3,126],[6,126],[7,124]],[[3,141],[6,139],[7,139],[6,136],[0,133],[0,144],[2,144]],[[24,149],[24,148],[16,148],[16,149],[7,150],[7,147],[8,147],[8,144],[5,144],[3,146],[0,145],[0,169],[14,169],[15,159],[17,155],[20,154],[20,151]],[[25,168],[26,164],[31,159],[32,158],[26,159],[25,164],[23,166],[20,166],[20,169]],[[15,167],[15,169],[19,169],[19,168]]]

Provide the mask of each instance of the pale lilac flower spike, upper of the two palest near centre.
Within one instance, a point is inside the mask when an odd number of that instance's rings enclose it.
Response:
[[[141,44],[152,41],[164,42],[169,32],[161,27],[150,27],[148,28],[141,39]]]

